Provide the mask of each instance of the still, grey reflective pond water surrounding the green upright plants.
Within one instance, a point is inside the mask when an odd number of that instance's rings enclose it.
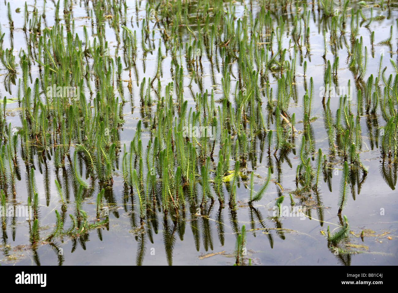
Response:
[[[27,1],[28,10],[33,10],[34,3],[34,1]],[[87,16],[87,11],[82,6],[83,4],[80,5],[80,3],[79,1],[74,2],[72,13],[75,22],[75,33],[82,36],[83,25],[91,28],[91,19]],[[131,18],[131,21],[127,22],[127,27],[137,30],[138,43],[140,44],[139,32],[142,26],[142,18],[145,15],[146,2],[137,3],[138,12],[134,2],[131,3],[131,6],[128,4],[128,20]],[[92,5],[91,2],[90,5]],[[192,2],[191,5],[190,11],[194,15],[196,4]],[[308,4],[308,7],[310,8],[311,5]],[[15,27],[12,39],[14,55],[17,56],[16,63],[19,63],[18,53],[20,48],[26,50],[25,33],[21,29],[23,26],[22,12],[24,2],[11,1],[10,6]],[[224,7],[229,10],[232,6],[236,8],[238,17],[242,15],[244,11],[242,3],[225,3]],[[349,7],[354,9],[360,6],[361,4],[358,4],[357,1],[352,1],[349,4]],[[39,11],[43,10],[42,1],[37,1],[36,7]],[[298,7],[302,8],[302,4],[299,3]],[[369,16],[370,8],[362,7],[363,14]],[[17,8],[21,8],[21,13],[15,12]],[[258,9],[259,4],[254,1],[252,13],[256,15]],[[295,11],[294,6],[291,9]],[[3,48],[11,46],[6,11],[5,3],[1,2],[0,23],[2,32],[5,33]],[[51,17],[54,14],[52,2],[47,2],[45,11],[47,17],[43,27],[50,27],[54,24],[54,19]],[[297,64],[295,85],[297,100],[291,100],[289,112],[295,113],[296,121],[298,121],[295,127],[297,130],[302,130],[303,124],[299,123],[299,120],[303,119],[302,96],[305,94],[302,64],[307,61],[306,82],[308,82],[310,77],[313,77],[315,89],[312,116],[317,119],[311,123],[316,139],[315,149],[321,148],[328,155],[328,135],[324,128],[320,88],[323,85],[325,63],[327,60],[331,60],[331,62],[333,60],[330,44],[327,46],[328,52],[325,59],[322,57],[324,53],[322,32],[323,29],[326,29],[326,39],[328,40],[331,18],[322,17],[322,13],[316,8],[313,11],[308,9],[308,11],[310,11],[310,51],[304,48],[302,52],[298,53],[299,62]],[[377,75],[380,54],[384,54],[382,67],[387,67],[385,75],[388,77],[395,72],[390,64],[390,58],[397,62],[398,31],[396,20],[398,18],[398,5],[390,3],[389,7],[385,5],[384,8],[373,7],[373,15],[384,16],[384,18],[373,20],[369,26],[370,31],[375,31],[375,41],[374,52],[373,54],[369,53],[368,57],[366,78],[371,73]],[[293,16],[289,6],[287,14],[281,14],[279,10],[279,14],[273,14],[273,19],[278,20],[280,16],[287,22],[283,37],[283,47],[289,48],[290,32],[293,28]],[[195,24],[194,17],[192,17],[191,21]],[[150,24],[150,26],[152,27],[154,24]],[[378,45],[378,42],[388,38],[390,26],[393,27],[392,48],[389,48],[388,45]],[[368,50],[372,48],[369,29],[362,25],[358,33],[358,37],[363,36],[364,44]],[[195,31],[197,27],[193,25],[191,30]],[[122,48],[121,45],[117,45],[115,31],[110,27],[110,22],[105,22],[105,31],[111,55],[121,55]],[[155,29],[154,44],[156,46],[161,32],[158,28]],[[91,41],[94,40],[92,33],[94,31],[90,31],[89,34]],[[189,31],[185,28],[181,29],[179,37],[182,42],[192,39]],[[350,42],[349,33],[340,37],[340,41],[342,44]],[[340,68],[338,69],[339,84],[346,86],[350,79],[351,85],[354,84],[355,87],[353,73],[347,68],[347,62],[349,62],[347,61],[347,48],[342,45],[337,50],[340,59]],[[172,82],[173,77],[170,72],[171,57],[167,53],[163,42],[162,52],[166,55],[163,63],[163,76],[160,78],[162,86],[164,86]],[[291,58],[293,54],[292,44],[286,53],[289,56],[287,59]],[[137,122],[139,119],[146,118],[146,114],[140,109],[138,84],[144,77],[152,78],[156,67],[156,51],[144,54],[139,46],[138,56],[137,76],[132,74],[134,95],[131,100],[129,100],[127,87],[124,88],[125,98],[128,102],[123,108],[125,123],[120,132],[122,146],[123,144],[129,146],[135,134]],[[184,88],[184,99],[188,100],[188,108],[195,108],[196,104],[190,92],[195,94],[196,92],[204,92],[206,89],[210,91],[213,88],[215,100],[222,97],[220,81],[222,74],[217,71],[217,68],[212,70],[211,67],[211,63],[206,56],[203,56],[200,69],[202,84],[193,81],[191,88],[187,86]],[[233,72],[236,73],[236,68],[233,69]],[[0,76],[3,79],[6,70],[0,70],[0,74],[3,74],[3,76]],[[7,96],[7,98],[10,98],[16,96],[20,74],[21,72],[18,70],[16,85],[12,83],[6,84],[6,82],[2,81],[0,84],[2,97]],[[38,77],[37,66],[31,68],[31,74],[34,81]],[[137,83],[137,77],[139,83]],[[235,77],[237,77],[236,74]],[[216,81],[214,86],[212,83],[213,78]],[[129,79],[128,71],[123,71],[123,79]],[[232,85],[234,85],[236,78],[231,76],[231,80]],[[187,72],[184,72],[184,85],[188,85],[190,81],[191,77]],[[127,86],[127,83],[124,84]],[[276,92],[276,79],[273,79],[273,81],[271,79],[271,86]],[[10,87],[11,94],[8,92],[8,87]],[[263,97],[263,99],[265,100],[266,98]],[[338,97],[331,98],[330,108],[332,113],[335,113],[337,107]],[[353,108],[355,109],[355,106]],[[18,116],[20,110],[18,102],[10,103],[7,106],[6,121],[7,123],[11,122],[14,128],[21,126]],[[152,106],[152,110],[156,110],[156,106]],[[264,115],[266,115],[265,112]],[[374,132],[375,129],[384,126],[384,120],[382,120],[380,115],[377,116],[377,122],[372,119],[362,116],[360,120],[363,140],[360,158],[363,165],[367,167],[368,173],[364,176],[362,172],[359,172],[360,191],[355,189],[355,197],[351,196],[351,192],[349,193],[347,205],[342,212],[342,214],[347,216],[350,224],[350,232],[344,242],[345,248],[351,250],[349,254],[336,253],[331,250],[328,247],[328,239],[326,237],[328,226],[332,233],[341,224],[341,219],[338,215],[339,185],[341,169],[343,169],[341,158],[328,155],[328,161],[330,161],[328,166],[331,168],[330,186],[324,182],[322,177],[318,185],[318,193],[311,192],[295,195],[293,192],[296,189],[295,179],[296,167],[299,161],[298,147],[300,140],[297,139],[297,150],[295,152],[291,151],[287,154],[287,157],[281,158],[279,153],[273,155],[273,151],[269,155],[259,137],[258,141],[255,142],[255,151],[252,152],[252,156],[247,162],[248,172],[254,171],[258,175],[254,177],[254,189],[258,190],[263,184],[268,167],[271,167],[273,173],[271,176],[272,182],[265,195],[261,201],[254,203],[253,206],[248,205],[250,194],[250,182],[248,180],[250,177],[240,177],[240,182],[237,183],[236,188],[238,207],[236,210],[230,208],[228,204],[220,206],[218,201],[208,203],[202,210],[198,210],[197,207],[190,206],[187,203],[184,212],[180,213],[179,217],[176,218],[170,215],[165,217],[160,207],[157,206],[155,210],[151,211],[150,220],[144,221],[143,228],[141,228],[137,203],[135,200],[132,202],[133,197],[130,195],[130,189],[126,190],[123,185],[121,170],[115,170],[113,187],[105,191],[105,202],[109,207],[109,225],[86,234],[82,233],[77,238],[58,237],[52,244],[45,242],[45,236],[49,235],[53,230],[55,223],[54,211],[56,209],[61,210],[60,198],[57,195],[54,179],[57,178],[62,182],[65,194],[70,200],[67,205],[68,210],[63,213],[65,218],[67,218],[64,224],[65,227],[70,224],[67,215],[74,210],[72,180],[70,179],[70,173],[65,173],[62,169],[56,170],[53,161],[41,162],[41,166],[39,166],[39,162],[35,159],[35,178],[40,203],[39,233],[41,243],[35,247],[31,246],[29,242],[31,223],[29,221],[23,218],[14,218],[13,220],[12,217],[8,217],[1,231],[0,263],[1,265],[232,265],[236,260],[234,250],[237,232],[240,231],[242,225],[245,225],[246,230],[248,230],[246,258],[250,258],[252,264],[255,265],[397,265],[398,213],[396,211],[398,210],[398,202],[395,191],[397,162],[391,164],[395,173],[391,175],[393,182],[388,184],[387,180],[383,178],[381,170],[383,167],[388,167],[389,163],[388,161],[385,161],[384,164],[382,163],[380,149],[368,133],[369,125],[373,126]],[[143,146],[146,146],[150,138],[149,132],[142,133]],[[219,145],[216,145],[215,154],[219,150]],[[119,158],[120,160],[121,158]],[[16,184],[16,203],[24,204],[27,202],[27,185],[22,160],[20,166],[21,180]],[[231,161],[232,168],[233,162]],[[213,166],[213,169],[215,169],[215,166]],[[46,178],[49,182],[48,188],[46,187]],[[90,182],[90,180],[87,181]],[[95,202],[99,191],[100,187],[95,183],[91,196],[88,195],[84,199],[82,206],[88,213],[88,218],[92,221],[96,218]],[[289,194],[291,194],[291,198]],[[291,209],[291,201],[294,201],[294,206],[305,206],[308,208],[306,215],[298,214],[294,216],[294,214],[288,214],[284,216],[282,214],[279,217],[275,217],[273,208],[275,199],[281,195],[285,196],[282,206],[287,206],[287,208]],[[363,238],[360,237],[362,231],[365,231]],[[63,253],[59,254],[59,250],[54,248],[54,246],[62,248]]]

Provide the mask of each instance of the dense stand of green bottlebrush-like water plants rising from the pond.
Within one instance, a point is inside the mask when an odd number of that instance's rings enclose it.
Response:
[[[18,23],[10,3],[0,4],[8,14],[8,25],[0,26],[1,200],[16,205],[24,196],[18,193],[26,191],[36,264],[43,243],[59,256],[57,240],[72,239],[72,251],[77,240],[85,247],[90,230],[102,240],[101,228],[109,229],[111,214],[119,217],[119,204],[136,236],[139,265],[145,243],[160,230],[172,264],[175,232],[182,240],[187,219],[196,250],[201,237],[205,250],[213,250],[209,219],[216,205],[220,244],[226,207],[236,236],[235,264],[251,264],[244,256],[254,241],[249,233],[262,229],[271,248],[273,230],[285,240],[281,205],[287,194],[291,206],[295,199],[314,200],[316,208],[302,212],[323,226],[322,188],[336,195],[331,213],[339,230],[327,240],[336,248],[349,237],[347,217],[341,217],[349,194],[355,200],[369,172],[365,144],[377,150],[381,177],[395,189],[398,63],[392,51],[398,21],[378,42],[372,29],[382,8],[353,7],[349,0],[39,3],[25,2]],[[77,9],[86,15],[82,25]],[[311,43],[312,26],[322,50]],[[17,29],[25,41],[21,48],[14,41]],[[322,72],[315,73],[321,67],[311,64],[311,56],[320,51]],[[352,73],[348,80],[339,79],[340,67]],[[8,115],[16,104],[19,120]],[[323,128],[314,126],[317,114]],[[133,127],[132,117],[139,118]],[[295,178],[284,181],[284,169]],[[18,189],[23,172],[26,184]],[[339,190],[332,190],[332,178]],[[271,185],[279,210],[269,217],[275,228],[260,212]],[[50,206],[54,197],[54,228],[43,235],[40,206]],[[84,210],[90,201],[96,208]],[[237,218],[242,201],[250,230]],[[6,226],[3,216],[4,244]]]

